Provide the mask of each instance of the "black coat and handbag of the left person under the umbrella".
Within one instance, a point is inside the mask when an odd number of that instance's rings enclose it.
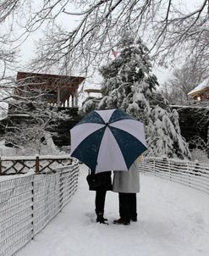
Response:
[[[98,184],[98,186],[91,186],[90,182],[89,183],[89,189],[93,190],[93,191],[97,191],[97,190],[112,190],[113,186],[112,186],[112,179],[111,179],[111,171],[104,171],[104,172],[100,172],[98,174],[93,174],[91,173],[91,175],[94,175],[94,178],[96,180],[96,183]],[[88,181],[88,178],[87,178]]]

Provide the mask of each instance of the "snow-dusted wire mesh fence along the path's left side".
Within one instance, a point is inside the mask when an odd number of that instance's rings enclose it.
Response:
[[[0,176],[0,256],[14,255],[30,242],[77,190],[77,161],[70,159],[69,165],[45,170]]]

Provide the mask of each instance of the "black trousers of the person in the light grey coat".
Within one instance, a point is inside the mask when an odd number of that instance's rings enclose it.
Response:
[[[137,217],[136,193],[118,193],[119,195],[119,214],[124,220]]]

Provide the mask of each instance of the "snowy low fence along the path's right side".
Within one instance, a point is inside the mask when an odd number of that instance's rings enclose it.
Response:
[[[145,158],[140,171],[194,187],[209,194],[209,164],[200,162]]]

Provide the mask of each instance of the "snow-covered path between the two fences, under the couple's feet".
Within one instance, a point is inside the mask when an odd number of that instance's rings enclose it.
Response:
[[[209,197],[186,186],[140,175],[139,221],[113,225],[118,195],[107,192],[109,225],[95,223],[94,196],[80,166],[72,201],[17,256],[208,256]]]

